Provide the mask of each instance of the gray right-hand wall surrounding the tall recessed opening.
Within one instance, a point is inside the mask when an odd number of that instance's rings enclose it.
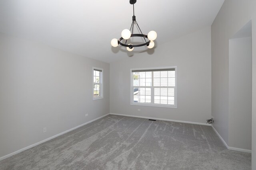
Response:
[[[256,2],[225,0],[212,24],[212,115],[214,127],[228,140],[228,41],[252,20],[252,169],[256,169]]]

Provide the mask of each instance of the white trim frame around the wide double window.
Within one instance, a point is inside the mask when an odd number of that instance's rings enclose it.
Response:
[[[133,79],[133,76],[132,76],[132,70],[157,70],[157,69],[166,69],[166,68],[174,68],[175,69],[175,88],[174,88],[174,105],[167,105],[167,104],[148,104],[148,103],[137,103],[137,102],[134,102],[133,101],[133,95],[134,95],[134,92],[133,92],[133,84],[132,84],[132,79]],[[135,106],[151,106],[151,107],[168,107],[168,108],[175,108],[177,109],[178,108],[178,104],[177,104],[177,101],[178,101],[178,78],[177,78],[177,75],[178,75],[178,69],[177,69],[177,66],[169,66],[169,67],[153,67],[153,68],[131,68],[130,69],[130,104],[131,105],[135,105]],[[153,86],[153,82],[152,82],[152,86],[146,86],[145,88],[151,88],[151,94],[154,93],[154,86]],[[164,86],[162,86],[161,88],[164,88]],[[152,95],[151,95],[152,96]]]

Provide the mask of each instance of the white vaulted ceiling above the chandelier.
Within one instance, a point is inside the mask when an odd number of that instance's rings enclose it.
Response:
[[[159,46],[210,26],[223,2],[137,0],[134,8],[142,32],[156,31]],[[107,63],[147,52],[146,47],[128,52],[110,45],[131,23],[129,0],[0,0],[0,32]]]

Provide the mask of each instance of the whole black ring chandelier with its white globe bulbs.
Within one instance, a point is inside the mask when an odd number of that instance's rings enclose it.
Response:
[[[121,33],[121,38],[118,40],[116,38],[112,39],[111,40],[111,45],[113,47],[117,47],[119,44],[126,47],[126,49],[128,51],[132,51],[134,49],[134,47],[142,47],[144,45],[146,45],[149,49],[152,49],[155,45],[154,43],[154,40],[156,39],[157,37],[157,34],[156,34],[156,31],[150,31],[148,33],[148,35],[144,35],[136,21],[136,17],[134,16],[134,4],[136,3],[137,0],[130,0],[130,4],[133,5],[133,16],[132,16],[132,25],[130,27],[130,30],[129,29],[124,29]],[[138,26],[139,30],[140,30],[140,33],[139,34],[134,34],[133,33],[133,29],[134,29],[134,23]],[[132,32],[131,32],[132,31]],[[133,45],[133,44],[126,44],[127,43],[127,40],[130,38],[130,37],[142,37],[144,40],[145,40],[145,43],[141,43],[141,44],[138,44],[138,45]],[[121,42],[122,40],[124,39],[125,43]],[[148,41],[146,40],[148,39]]]

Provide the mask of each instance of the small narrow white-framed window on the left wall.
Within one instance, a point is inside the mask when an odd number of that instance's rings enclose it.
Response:
[[[93,100],[103,98],[103,69],[93,68]]]

